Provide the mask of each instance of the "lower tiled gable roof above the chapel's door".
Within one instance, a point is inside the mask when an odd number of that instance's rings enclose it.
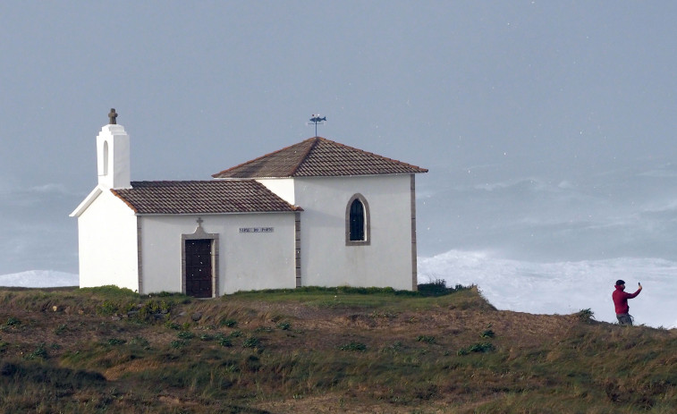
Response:
[[[113,189],[138,214],[208,214],[297,211],[263,184],[245,181],[131,182]]]

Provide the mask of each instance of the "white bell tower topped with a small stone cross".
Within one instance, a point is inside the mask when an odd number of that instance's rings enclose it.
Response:
[[[109,189],[131,188],[130,136],[118,125],[111,108],[109,122],[97,136],[98,185]]]

